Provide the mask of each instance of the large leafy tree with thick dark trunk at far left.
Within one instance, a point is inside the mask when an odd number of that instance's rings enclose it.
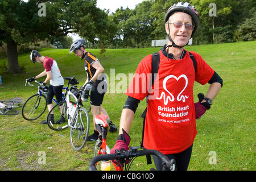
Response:
[[[98,36],[104,47],[103,25],[108,16],[96,7],[96,0],[55,0],[43,2],[41,9],[39,3],[37,0],[0,2],[0,42],[7,44],[7,72],[20,72],[18,44],[51,40],[77,32],[90,42]]]

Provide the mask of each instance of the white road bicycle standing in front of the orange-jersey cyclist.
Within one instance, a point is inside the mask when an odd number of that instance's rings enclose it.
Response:
[[[49,111],[47,125],[55,131],[64,130],[69,127],[71,129],[70,137],[72,147],[75,151],[80,151],[88,138],[89,114],[81,100],[81,92],[84,88],[72,88],[76,90],[78,95],[75,95],[74,92],[69,90],[66,100],[59,102],[59,104],[53,106]],[[53,120],[50,117],[51,114],[54,116]]]

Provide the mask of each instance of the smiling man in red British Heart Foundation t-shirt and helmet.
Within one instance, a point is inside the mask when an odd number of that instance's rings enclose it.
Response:
[[[128,149],[134,113],[139,101],[148,96],[143,147],[175,158],[177,170],[187,170],[197,134],[196,119],[210,109],[222,79],[198,53],[191,52],[196,60],[195,71],[189,52],[184,49],[199,26],[199,14],[194,6],[183,2],[175,4],[167,11],[165,23],[168,44],[159,51],[158,76],[149,92],[152,55],[146,56],[127,89],[119,136],[111,152]],[[196,104],[193,102],[195,81],[210,84],[208,93]],[[162,169],[161,160],[153,158],[156,169]]]

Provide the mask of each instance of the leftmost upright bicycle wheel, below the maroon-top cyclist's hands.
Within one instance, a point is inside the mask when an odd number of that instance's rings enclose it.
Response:
[[[35,94],[27,99],[22,107],[22,117],[28,121],[38,119],[46,111],[46,96]]]

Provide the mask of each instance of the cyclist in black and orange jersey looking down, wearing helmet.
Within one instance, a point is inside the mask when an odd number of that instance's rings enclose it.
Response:
[[[84,39],[76,40],[72,43],[69,53],[74,52],[84,60],[85,71],[87,79],[83,85],[85,90],[82,92],[82,101],[88,101],[88,94],[90,92],[90,105],[92,107],[94,133],[88,137],[88,141],[95,141],[98,139],[98,131],[96,130],[95,117],[100,114],[108,115],[107,111],[102,107],[104,95],[108,89],[108,82],[104,74],[104,68],[100,61],[91,52],[85,49]],[[109,123],[109,131],[117,131],[117,127],[112,121]]]

